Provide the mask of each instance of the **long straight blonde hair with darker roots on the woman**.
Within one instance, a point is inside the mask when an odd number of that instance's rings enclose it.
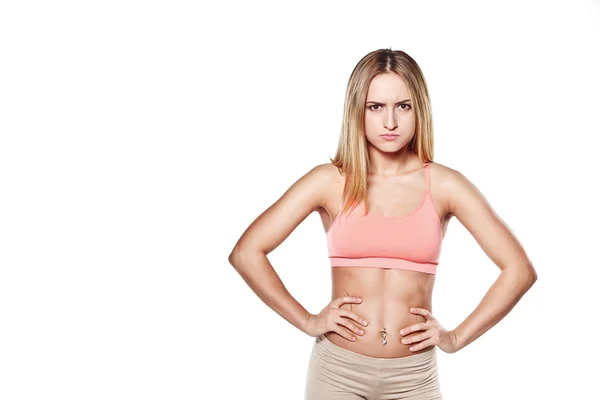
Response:
[[[433,160],[433,122],[427,83],[419,65],[401,50],[379,49],[364,56],[354,67],[344,100],[342,130],[331,163],[346,176],[340,215],[367,198],[369,154],[364,133],[365,103],[371,80],[396,73],[405,82],[415,115],[415,134],[407,144],[422,164]],[[365,207],[366,211],[366,207]]]

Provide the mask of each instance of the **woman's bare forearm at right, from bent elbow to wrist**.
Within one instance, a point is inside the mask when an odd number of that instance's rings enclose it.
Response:
[[[472,343],[504,318],[535,282],[535,272],[506,268],[477,308],[454,329],[457,351]]]

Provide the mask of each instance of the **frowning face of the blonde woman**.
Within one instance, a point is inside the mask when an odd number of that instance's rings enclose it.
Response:
[[[371,80],[365,103],[367,141],[382,152],[396,152],[415,134],[415,118],[406,84],[395,73]],[[396,135],[386,139],[385,134]]]

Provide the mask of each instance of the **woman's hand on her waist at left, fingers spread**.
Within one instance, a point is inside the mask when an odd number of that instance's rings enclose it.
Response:
[[[361,301],[362,299],[352,296],[339,297],[333,300],[319,314],[309,316],[304,331],[313,337],[333,331],[351,342],[355,341],[356,337],[350,332],[362,335],[364,330],[359,325],[367,326],[368,322],[352,311],[340,307],[346,303],[360,303]]]

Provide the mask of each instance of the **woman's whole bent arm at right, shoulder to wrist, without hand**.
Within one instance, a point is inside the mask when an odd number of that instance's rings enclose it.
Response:
[[[447,207],[500,268],[500,276],[477,308],[453,331],[456,351],[496,325],[537,280],[537,273],[510,228],[462,173],[447,169]]]

